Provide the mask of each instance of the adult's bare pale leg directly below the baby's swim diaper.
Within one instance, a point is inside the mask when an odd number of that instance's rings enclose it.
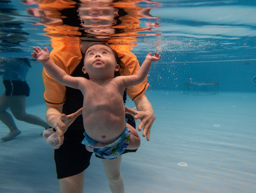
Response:
[[[102,159],[105,175],[112,193],[124,193],[124,181],[120,171],[122,155],[114,160]]]

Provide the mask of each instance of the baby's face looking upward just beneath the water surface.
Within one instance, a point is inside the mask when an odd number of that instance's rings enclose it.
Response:
[[[119,70],[119,65],[115,59],[114,51],[105,45],[93,45],[85,52],[84,68],[89,76],[92,73],[104,70],[104,73],[114,75],[115,71]]]

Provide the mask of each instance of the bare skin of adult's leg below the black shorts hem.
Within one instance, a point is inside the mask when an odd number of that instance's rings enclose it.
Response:
[[[77,175],[59,179],[61,193],[83,193],[84,192],[84,174],[85,171]]]

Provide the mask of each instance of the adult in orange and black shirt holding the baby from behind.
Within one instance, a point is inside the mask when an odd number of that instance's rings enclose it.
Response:
[[[48,4],[44,4],[44,6],[45,5]],[[101,10],[101,6],[98,6],[97,9]],[[103,9],[105,10],[104,7],[102,10]],[[109,8],[108,10],[112,10],[112,8]],[[112,12],[108,13],[112,14]],[[85,18],[81,15],[82,12],[79,14],[80,18],[82,18],[85,23]],[[104,18],[108,18],[107,15],[100,16],[102,21],[105,21]],[[100,16],[98,16],[98,18]],[[91,21],[94,20],[92,19]],[[99,24],[100,23],[98,23],[98,25]],[[51,29],[53,29],[52,26],[54,25],[55,24],[47,24],[48,30],[51,31]],[[72,30],[69,28],[72,28]],[[97,28],[99,28],[99,26],[97,26]],[[104,26],[104,29],[105,28],[106,26]],[[46,33],[46,35],[51,37],[52,42],[53,50],[50,53],[51,60],[57,66],[61,67],[61,69],[63,69],[68,75],[89,78],[87,74],[82,72],[82,66],[84,64],[82,55],[85,53],[88,46],[95,42],[81,42],[81,39],[78,37],[79,34],[75,34],[75,36],[68,35],[67,37],[61,36],[58,38],[54,33],[56,32],[56,29],[65,29],[67,33],[77,30],[76,27],[56,23],[54,31],[52,31],[52,33]],[[82,37],[82,39],[83,38],[84,37]],[[122,40],[123,39],[124,38],[122,37]],[[117,39],[114,38],[113,41],[114,40]],[[111,43],[111,40],[109,42]],[[134,75],[139,69],[137,57],[129,51],[129,48],[127,48],[128,44],[117,45],[114,43],[115,42],[113,42],[112,45],[110,44],[109,47],[118,53],[122,63],[124,63],[124,67],[119,70],[119,73],[124,76]],[[81,141],[84,139],[82,116],[77,117],[77,114],[74,114],[82,107],[82,93],[77,89],[62,86],[56,82],[45,69],[43,71],[43,80],[45,84],[44,97],[47,105],[46,119],[48,123],[56,129],[59,141],[61,142],[61,146],[56,149],[54,153],[57,177],[59,179],[61,192],[81,193],[84,189],[85,169],[89,166],[89,160],[92,154],[86,150],[84,144],[81,144]],[[151,103],[149,103],[144,94],[147,88],[148,83],[147,79],[145,79],[137,86],[129,87],[127,89],[127,94],[134,101],[137,109],[139,110],[132,111],[132,113],[135,114],[134,117],[141,120],[138,130],[143,130],[142,136],[147,137],[147,140],[149,140],[151,126],[155,120],[155,116]],[[129,120],[128,123],[132,125]],[[64,134],[64,140],[62,138],[62,134]],[[122,180],[121,173],[119,172],[121,157],[118,157],[115,160],[102,160],[102,162],[104,164],[105,174],[107,175],[111,191],[124,192],[124,182]]]

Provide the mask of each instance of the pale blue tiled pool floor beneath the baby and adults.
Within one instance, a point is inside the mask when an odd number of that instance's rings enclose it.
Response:
[[[146,94],[156,120],[150,141],[141,137],[137,153],[122,155],[125,192],[256,192],[256,93]],[[45,105],[27,112],[44,118]],[[0,143],[0,192],[59,192],[53,150],[40,136],[42,128],[16,123],[22,134]],[[7,128],[0,127],[5,136]],[[85,192],[110,192],[94,156]]]

